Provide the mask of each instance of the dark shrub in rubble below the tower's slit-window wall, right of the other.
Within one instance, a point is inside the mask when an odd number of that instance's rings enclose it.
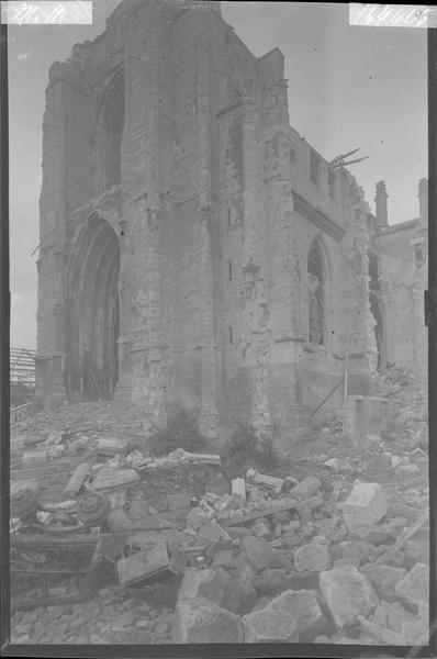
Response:
[[[236,422],[222,457],[233,471],[256,467],[269,472],[279,465],[271,437],[261,437],[254,426],[242,422]]]

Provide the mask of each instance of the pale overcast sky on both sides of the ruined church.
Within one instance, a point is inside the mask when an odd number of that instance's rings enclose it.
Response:
[[[36,344],[42,121],[48,68],[105,26],[119,0],[94,0],[93,25],[10,26],[10,239],[13,347]],[[350,170],[373,210],[385,180],[389,221],[418,215],[427,176],[426,30],[348,25],[347,4],[223,2],[222,13],[258,57],[285,56],[291,125],[326,159],[360,147]]]

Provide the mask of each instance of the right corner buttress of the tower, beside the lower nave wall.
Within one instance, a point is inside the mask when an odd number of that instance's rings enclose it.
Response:
[[[266,298],[269,309],[270,425],[283,432],[300,423],[293,342],[300,334],[301,300],[296,226],[291,190],[292,161],[288,83],[283,56],[273,49],[258,59],[262,83],[265,213],[268,224]]]

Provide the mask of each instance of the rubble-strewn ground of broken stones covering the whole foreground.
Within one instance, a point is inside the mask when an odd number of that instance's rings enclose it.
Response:
[[[12,641],[426,645],[426,398],[381,386],[390,432],[359,453],[332,420],[269,472],[228,447],[157,455],[110,404],[19,424]]]

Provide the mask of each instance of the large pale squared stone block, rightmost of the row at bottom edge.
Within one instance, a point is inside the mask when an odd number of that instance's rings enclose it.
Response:
[[[320,587],[337,627],[357,615],[370,615],[378,605],[370,581],[354,566],[339,566],[321,572]]]

